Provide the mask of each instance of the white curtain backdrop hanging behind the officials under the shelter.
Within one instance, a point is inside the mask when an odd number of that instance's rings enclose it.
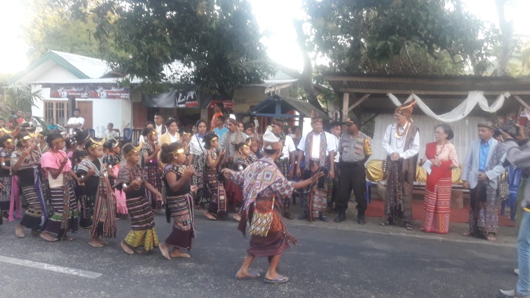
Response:
[[[414,125],[420,130],[420,152],[419,158],[425,155],[425,145],[434,142],[434,126],[440,121],[426,115],[412,115]],[[453,129],[455,137],[450,141],[456,148],[456,153],[460,163],[464,162],[465,153],[469,143],[479,138],[476,125],[485,119],[481,117],[466,117],[455,121],[449,125]],[[388,125],[394,123],[393,114],[381,114],[375,118],[374,138],[372,140],[372,157],[370,159],[385,159],[386,153],[383,150],[382,140]]]

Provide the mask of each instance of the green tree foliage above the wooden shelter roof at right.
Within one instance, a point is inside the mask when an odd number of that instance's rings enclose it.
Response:
[[[458,0],[307,0],[307,48],[334,71],[483,74],[497,32]]]

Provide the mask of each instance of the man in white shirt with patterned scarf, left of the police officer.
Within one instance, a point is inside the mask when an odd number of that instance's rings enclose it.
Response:
[[[296,166],[296,175],[304,179],[311,177],[319,169],[326,169],[329,171],[329,177],[335,178],[335,151],[337,145],[335,144],[335,137],[329,132],[322,130],[322,118],[315,112],[311,113],[311,127],[313,130],[302,136],[298,143],[298,165]],[[304,157],[304,172],[302,173],[300,164]],[[323,215],[323,212],[328,208],[328,177],[319,179],[316,189],[313,189],[313,200],[308,202],[307,195],[302,197],[302,209],[304,214],[298,219],[313,220],[315,216],[322,221],[328,221],[328,218]]]

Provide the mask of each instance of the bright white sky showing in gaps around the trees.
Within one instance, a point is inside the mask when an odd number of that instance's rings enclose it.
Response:
[[[528,12],[530,0],[512,0],[513,10],[507,17],[514,20],[516,33],[530,37]],[[302,0],[250,0],[253,12],[266,37],[262,42],[268,55],[279,64],[302,69],[301,51],[296,44],[293,18],[303,17]],[[487,22],[497,22],[494,0],[463,0],[473,14]],[[20,0],[0,0],[0,74],[16,74],[28,66],[25,52],[28,49],[21,37],[21,26],[27,13]]]

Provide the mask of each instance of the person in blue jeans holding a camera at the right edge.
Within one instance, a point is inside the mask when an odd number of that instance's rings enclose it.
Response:
[[[519,128],[515,136],[501,131],[505,138],[506,159],[518,168],[524,168],[523,180],[528,178],[530,169],[530,143],[525,137],[523,129]],[[497,297],[530,297],[530,184],[524,183],[519,188],[524,191],[523,219],[519,225],[519,239],[517,241],[517,257],[519,263],[519,279],[515,290],[499,290]]]

